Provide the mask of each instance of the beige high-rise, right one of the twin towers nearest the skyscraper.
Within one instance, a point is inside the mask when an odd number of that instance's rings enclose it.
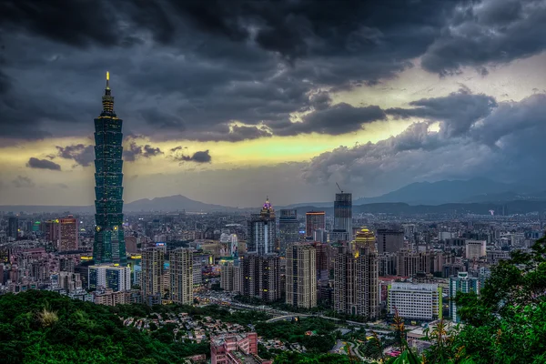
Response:
[[[193,253],[178,248],[169,254],[170,297],[174,303],[193,304]]]

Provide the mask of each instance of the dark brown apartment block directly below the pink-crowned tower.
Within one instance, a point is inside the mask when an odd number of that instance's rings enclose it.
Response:
[[[272,302],[280,298],[280,267],[276,254],[248,254],[240,259],[241,294]]]

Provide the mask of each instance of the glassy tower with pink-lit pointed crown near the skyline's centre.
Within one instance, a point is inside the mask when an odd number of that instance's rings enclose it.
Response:
[[[275,210],[266,199],[259,214],[253,214],[248,220],[247,252],[259,255],[275,252],[277,225]]]

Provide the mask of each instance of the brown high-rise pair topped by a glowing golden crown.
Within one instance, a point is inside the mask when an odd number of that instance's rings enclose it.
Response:
[[[339,247],[334,265],[334,309],[368,319],[379,317],[379,267],[375,236],[362,228]]]

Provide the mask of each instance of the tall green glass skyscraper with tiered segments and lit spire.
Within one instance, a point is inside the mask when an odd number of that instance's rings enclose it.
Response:
[[[93,259],[96,264],[126,265],[126,245],[123,233],[123,161],[121,159],[123,121],[114,112],[109,74],[102,98],[103,111],[95,119],[95,242]]]

